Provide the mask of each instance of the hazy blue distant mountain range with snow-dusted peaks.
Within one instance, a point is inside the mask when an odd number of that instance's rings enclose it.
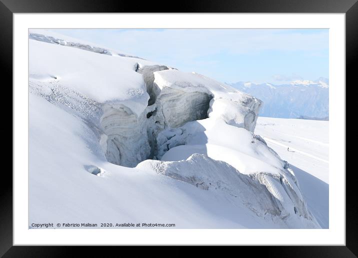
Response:
[[[227,83],[263,101],[260,116],[327,120],[329,81],[294,80],[288,84]]]

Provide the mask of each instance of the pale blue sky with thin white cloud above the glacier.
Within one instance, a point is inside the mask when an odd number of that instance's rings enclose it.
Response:
[[[328,78],[328,29],[54,31],[223,82]]]

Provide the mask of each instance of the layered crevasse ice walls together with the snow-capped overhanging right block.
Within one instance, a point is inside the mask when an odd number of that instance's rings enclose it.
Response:
[[[209,116],[254,129],[261,104],[256,98],[227,85],[223,88],[219,82],[200,74],[184,73],[163,65],[147,65],[135,70],[143,74],[148,105],[141,114],[131,113],[130,108],[125,110],[125,105],[119,109],[113,106],[103,109],[101,124],[108,136],[106,156],[110,162],[133,167],[147,158],[160,158],[163,151],[168,150],[168,147],[162,148],[160,132]],[[184,79],[167,83],[164,78],[173,75]],[[192,82],[195,83],[190,84]],[[230,96],[225,96],[225,92],[231,93]]]

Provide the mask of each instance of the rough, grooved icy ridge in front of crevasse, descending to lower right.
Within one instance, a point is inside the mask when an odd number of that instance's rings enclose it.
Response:
[[[290,173],[279,177],[259,172],[249,176],[224,161],[194,153],[186,160],[145,160],[136,168],[190,183],[203,190],[222,190],[252,210],[257,216],[289,228],[320,228],[309,212],[298,185]]]

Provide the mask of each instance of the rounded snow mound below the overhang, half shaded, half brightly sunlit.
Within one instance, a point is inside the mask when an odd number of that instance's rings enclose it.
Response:
[[[266,171],[278,175],[279,168],[284,166],[284,162],[264,143],[255,139],[253,133],[244,128],[228,125],[222,120],[208,118],[187,123],[179,129],[184,132],[175,134],[179,135],[176,137],[169,135],[170,139],[162,144],[178,141],[177,137],[186,137],[185,141],[179,141],[179,144],[184,145],[170,148],[161,160],[181,160],[195,152],[204,153],[211,158],[229,163],[245,174]],[[222,134],[221,131],[225,133]],[[160,136],[159,134],[158,137]],[[194,149],[190,151],[192,145]]]

